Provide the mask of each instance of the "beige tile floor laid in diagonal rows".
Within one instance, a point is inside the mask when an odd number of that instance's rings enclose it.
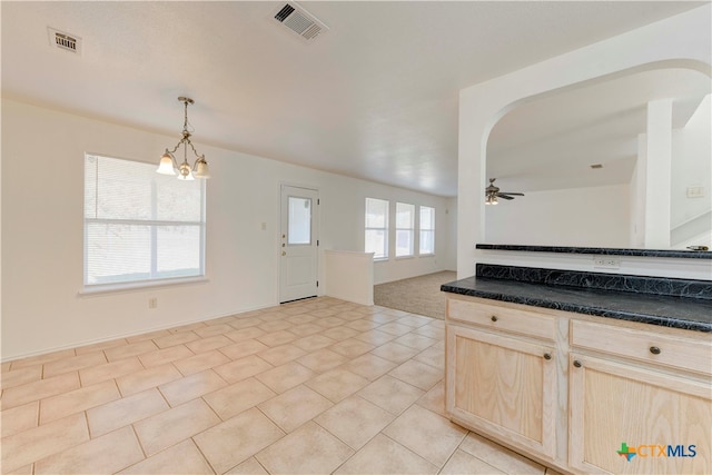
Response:
[[[4,363],[2,473],[545,474],[443,365],[442,320],[328,297]]]

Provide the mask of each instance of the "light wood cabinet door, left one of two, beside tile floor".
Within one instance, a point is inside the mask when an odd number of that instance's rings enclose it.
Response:
[[[472,428],[553,458],[553,355],[545,345],[448,325],[447,410]]]

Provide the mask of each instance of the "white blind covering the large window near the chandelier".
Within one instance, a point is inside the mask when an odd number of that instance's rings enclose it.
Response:
[[[205,180],[85,156],[85,286],[205,275]]]

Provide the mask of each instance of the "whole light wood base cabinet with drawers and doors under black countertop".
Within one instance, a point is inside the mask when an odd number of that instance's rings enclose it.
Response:
[[[712,473],[710,334],[464,296],[446,333],[454,422],[562,472]]]

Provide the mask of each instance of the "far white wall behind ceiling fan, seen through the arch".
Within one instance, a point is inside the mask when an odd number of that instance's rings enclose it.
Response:
[[[485,243],[629,247],[629,186],[527,191],[485,207]]]

